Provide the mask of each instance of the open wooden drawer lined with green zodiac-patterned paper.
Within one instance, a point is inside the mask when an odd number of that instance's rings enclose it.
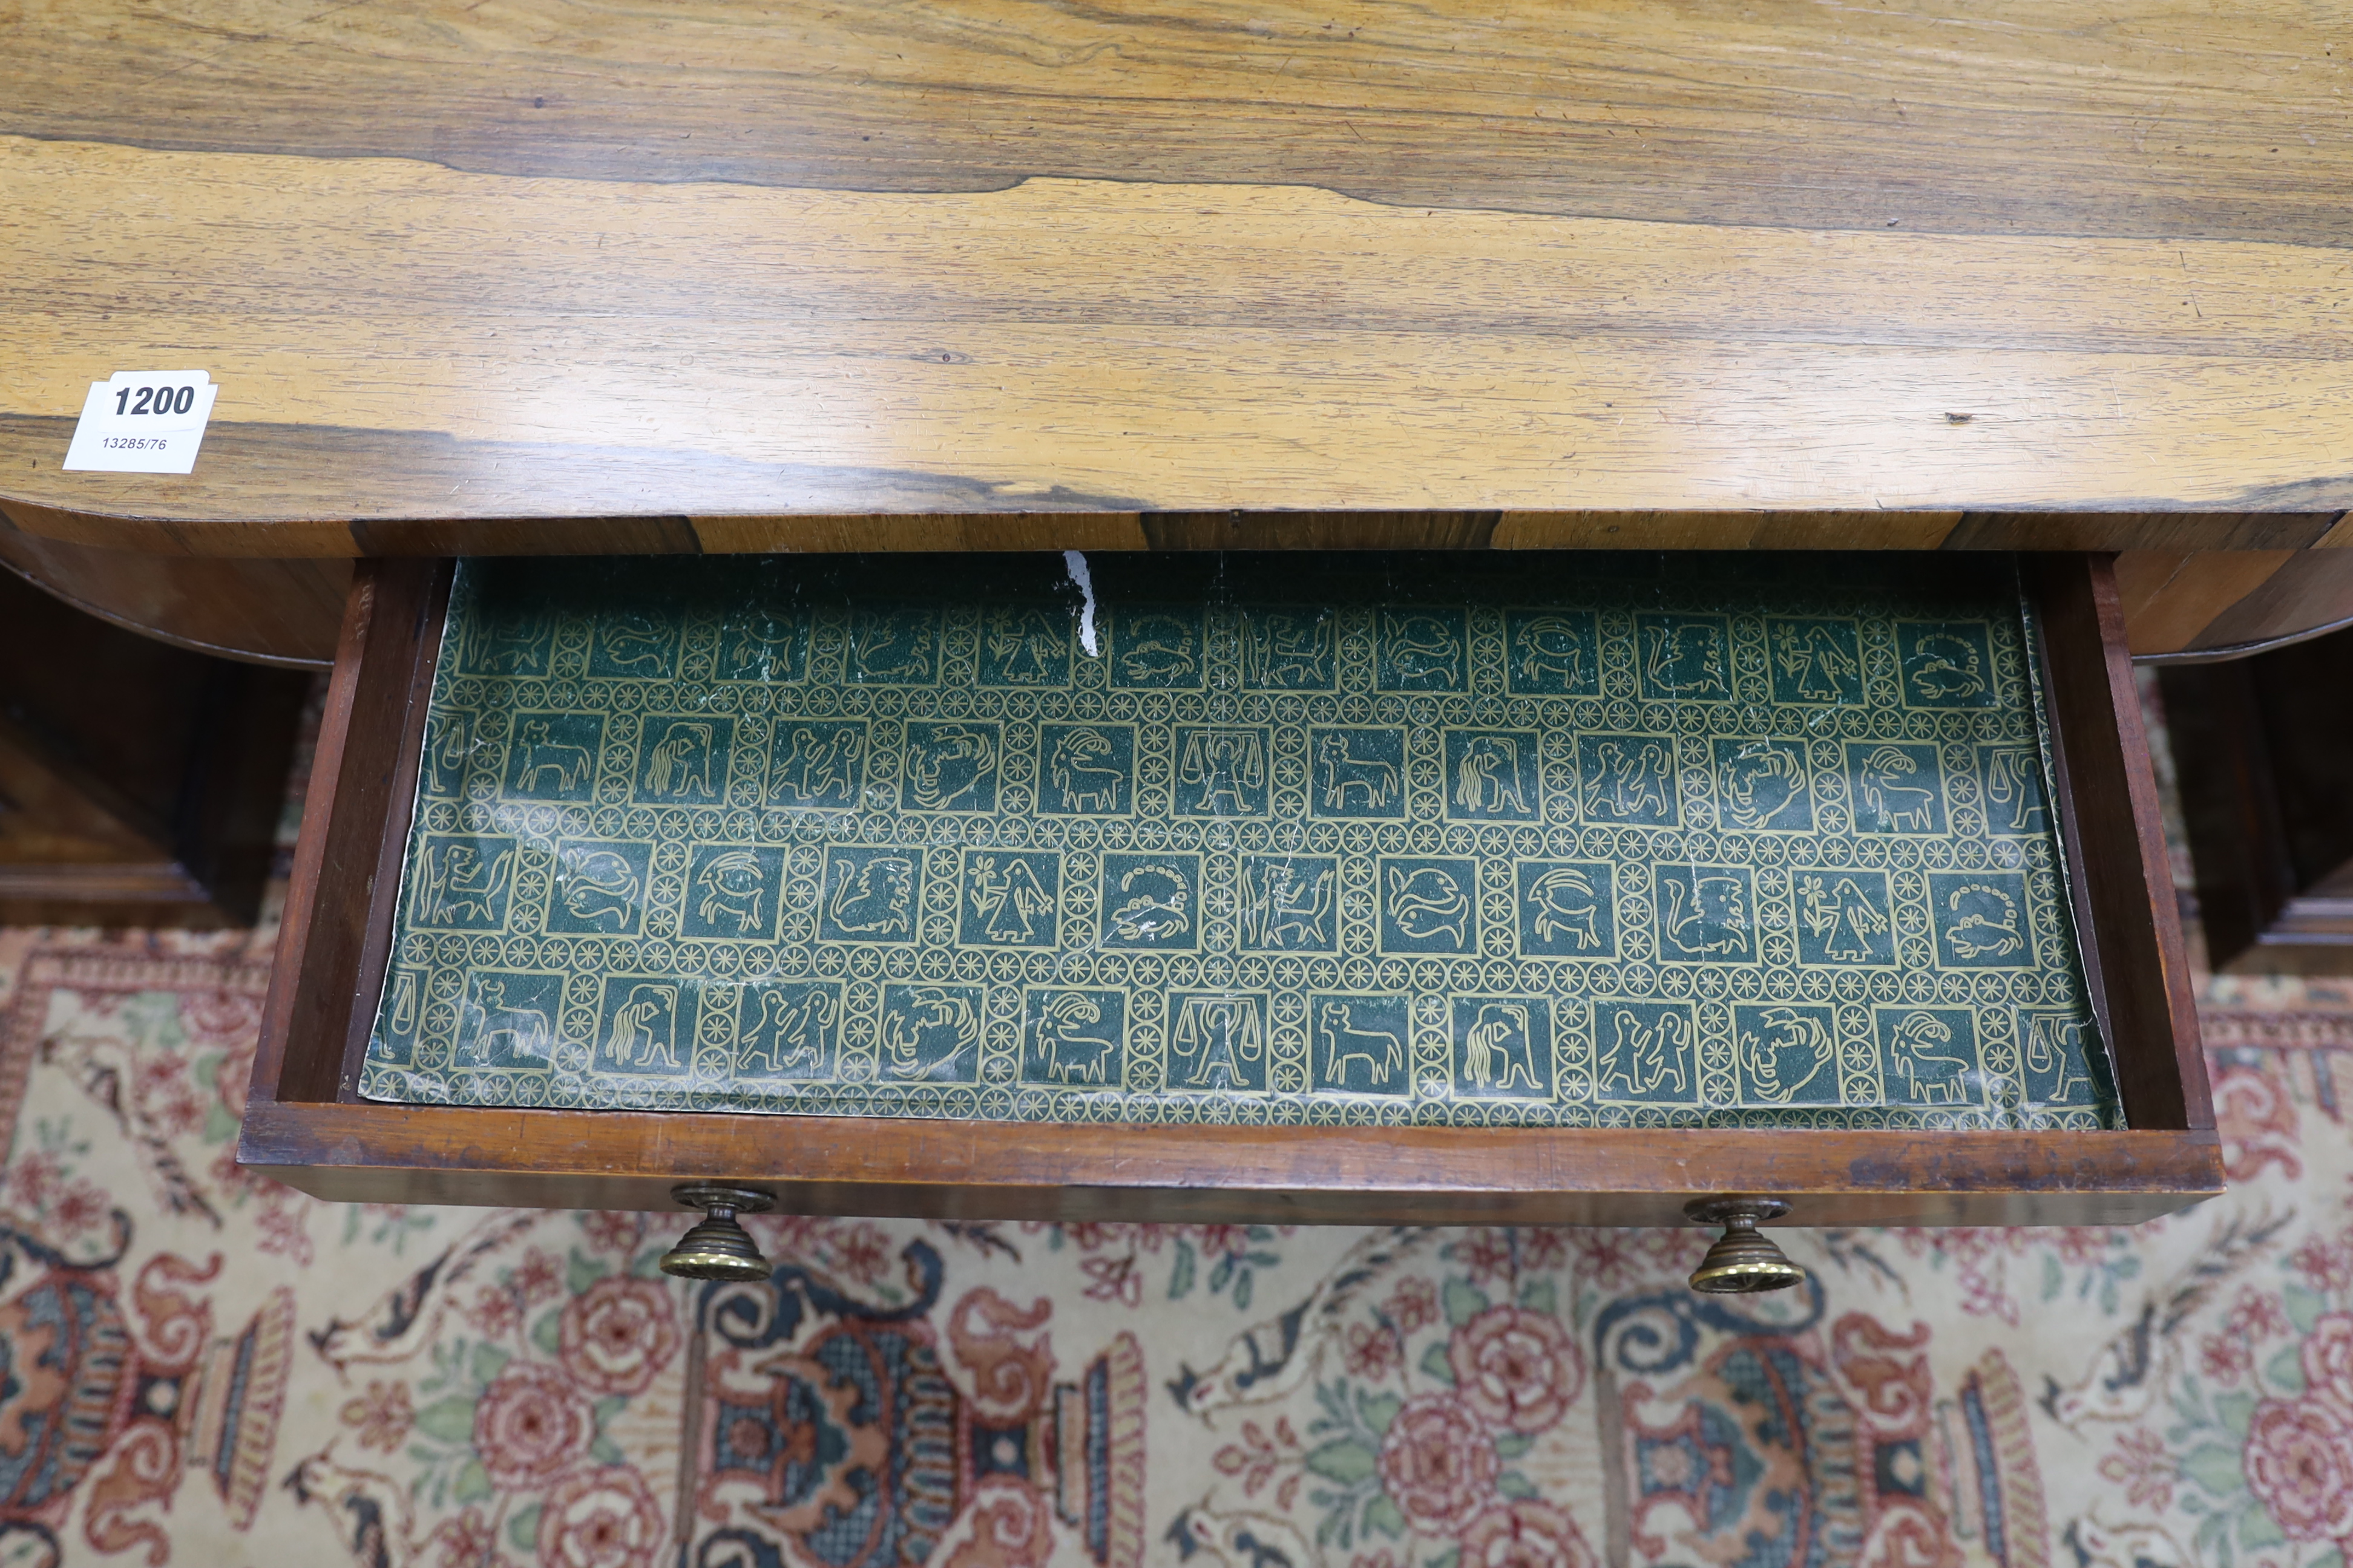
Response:
[[[2221,1190],[2108,557],[1094,557],[1096,656],[986,559],[887,569],[972,611],[915,682],[833,557],[362,562],[240,1159],[1172,1222]],[[1986,571],[2009,630],[1932,602]]]

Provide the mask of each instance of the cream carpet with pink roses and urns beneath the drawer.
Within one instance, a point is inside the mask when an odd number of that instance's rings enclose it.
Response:
[[[0,1563],[1817,1568],[2353,1547],[2353,985],[2207,983],[2233,1192],[2139,1232],[315,1204],[231,1161],[268,933],[0,933]]]

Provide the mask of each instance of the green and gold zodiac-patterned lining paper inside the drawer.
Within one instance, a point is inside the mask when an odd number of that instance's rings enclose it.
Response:
[[[466,562],[379,1100],[2120,1121],[2007,557]]]

